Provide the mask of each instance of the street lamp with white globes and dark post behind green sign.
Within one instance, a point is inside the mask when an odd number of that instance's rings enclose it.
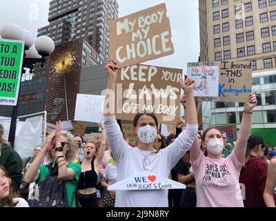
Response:
[[[2,39],[23,40],[25,42],[20,81],[23,73],[25,73],[25,70],[23,68],[30,68],[30,73],[32,73],[32,68],[34,67],[34,64],[41,63],[41,66],[43,66],[43,64],[46,62],[46,57],[48,57],[50,53],[55,50],[55,43],[54,41],[52,41],[52,39],[50,39],[50,37],[41,36],[34,41],[34,37],[32,36],[31,32],[29,32],[28,30],[22,30],[19,26],[15,24],[7,24],[6,26],[2,26],[0,34]],[[14,146],[15,130],[17,127],[17,113],[19,106],[18,97],[17,105],[12,106],[12,118],[10,122],[10,133],[8,137],[8,142],[10,142],[12,147]]]

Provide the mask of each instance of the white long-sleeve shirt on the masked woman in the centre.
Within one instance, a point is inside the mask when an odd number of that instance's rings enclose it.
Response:
[[[131,147],[124,140],[115,117],[103,117],[106,137],[115,157],[118,176],[117,182],[144,171],[143,159],[148,155],[146,169],[162,177],[168,177],[170,170],[192,146],[197,135],[197,125],[186,125],[175,142],[158,153],[142,151]],[[168,207],[168,189],[116,191],[116,207]]]

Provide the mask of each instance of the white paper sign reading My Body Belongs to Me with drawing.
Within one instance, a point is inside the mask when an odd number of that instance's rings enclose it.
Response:
[[[219,96],[218,66],[188,66],[187,75],[195,80],[195,97]]]

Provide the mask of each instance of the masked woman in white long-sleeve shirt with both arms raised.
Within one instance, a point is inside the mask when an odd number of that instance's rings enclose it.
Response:
[[[134,130],[138,137],[138,145],[131,147],[124,140],[115,119],[116,64],[117,61],[113,58],[108,59],[106,64],[108,90],[103,119],[108,142],[117,162],[117,182],[128,181],[130,178],[135,177],[133,180],[137,184],[134,184],[131,190],[116,189],[115,206],[168,206],[168,186],[165,187],[164,183],[159,183],[157,185],[159,187],[155,190],[152,189],[152,186],[155,185],[155,180],[159,179],[163,182],[168,178],[170,170],[177,164],[181,156],[188,151],[195,140],[198,128],[197,112],[193,97],[195,81],[189,77],[185,81],[180,79],[181,87],[186,94],[187,126],[186,130],[177,137],[175,142],[164,149],[156,150],[157,117],[154,113],[145,112],[138,113],[133,119]],[[147,175],[139,177],[139,174]]]

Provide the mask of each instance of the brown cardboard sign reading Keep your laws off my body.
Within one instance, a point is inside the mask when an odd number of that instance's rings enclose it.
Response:
[[[181,69],[133,65],[119,69],[116,89],[117,119],[133,120],[145,110],[159,123],[177,124],[180,115]]]

